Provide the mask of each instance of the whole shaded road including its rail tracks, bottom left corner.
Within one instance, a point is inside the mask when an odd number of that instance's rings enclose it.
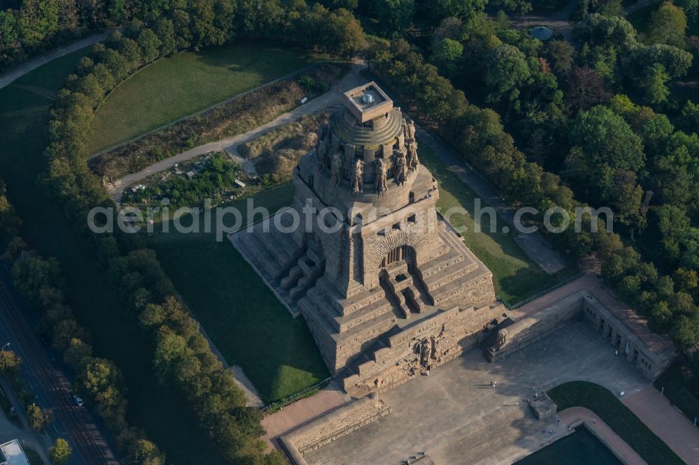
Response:
[[[36,393],[36,403],[51,408],[55,413],[55,423],[47,425],[48,433],[64,438],[69,436],[73,445],[73,464],[118,464],[98,422],[87,407],[75,405],[69,379],[55,367],[47,348],[24,315],[26,311],[0,276],[0,319],[3,323],[0,334],[4,333],[2,335],[10,342],[12,350],[22,357],[25,378],[29,388]]]

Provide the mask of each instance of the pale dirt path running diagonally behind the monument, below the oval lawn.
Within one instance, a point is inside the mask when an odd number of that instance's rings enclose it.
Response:
[[[294,110],[291,110],[290,112],[280,115],[279,117],[273,119],[273,121],[270,121],[267,124],[263,124],[261,126],[258,126],[257,128],[254,128],[252,131],[248,131],[247,133],[243,134],[233,135],[229,138],[217,140],[215,142],[210,142],[205,145],[200,145],[199,147],[194,147],[194,149],[187,150],[187,152],[182,152],[175,156],[171,156],[170,158],[166,158],[157,163],[154,163],[153,165],[150,165],[149,167],[144,168],[143,170],[132,173],[131,175],[124,176],[121,179],[117,179],[114,182],[114,185],[108,189],[108,193],[113,200],[118,201],[122,197],[122,193],[124,193],[124,190],[127,189],[127,187],[131,186],[131,184],[134,184],[140,181],[141,179],[145,179],[150,175],[154,175],[158,172],[168,170],[175,163],[182,163],[182,161],[187,161],[196,156],[201,156],[203,154],[207,154],[208,152],[213,151],[224,151],[228,153],[229,155],[231,155],[231,158],[233,158],[233,160],[237,161],[238,163],[241,163],[243,165],[243,168],[245,168],[248,172],[250,172],[251,170],[252,172],[254,172],[254,165],[252,164],[252,162],[247,161],[238,156],[238,146],[240,144],[253,140],[254,138],[258,138],[259,136],[263,135],[264,133],[267,133],[268,131],[271,131],[274,128],[284,126],[284,124],[292,123],[308,115],[315,115],[333,105],[339,105],[340,103],[342,103],[343,92],[352,89],[353,87],[356,87],[360,85],[362,82],[366,81],[365,79],[363,79],[363,77],[359,75],[359,72],[363,68],[363,64],[352,65],[352,70],[349,71],[349,73],[347,73],[347,75],[345,75],[345,77],[343,77],[343,79],[340,80],[340,82],[337,82],[335,85],[333,85],[331,90],[327,91],[322,96],[314,98],[308,103],[305,103],[304,105],[301,105],[300,107],[297,107]]]

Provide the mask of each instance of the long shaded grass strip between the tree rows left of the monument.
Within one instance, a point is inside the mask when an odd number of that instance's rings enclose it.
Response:
[[[82,50],[50,62],[17,84],[57,90],[62,74],[69,73]],[[94,336],[94,353],[113,360],[124,372],[129,408],[127,418],[166,452],[168,464],[217,464],[208,433],[183,408],[182,397],[152,376],[150,342],[143,339],[133,318],[115,297],[92,249],[80,237],[55,198],[44,195],[36,179],[44,166],[48,144],[48,111],[52,100],[10,85],[0,89],[0,177],[8,197],[22,217],[22,235],[45,257],[61,261],[76,318]]]

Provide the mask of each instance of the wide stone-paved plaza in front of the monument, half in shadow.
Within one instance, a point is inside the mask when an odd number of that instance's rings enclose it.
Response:
[[[550,426],[536,420],[524,400],[535,389],[575,380],[626,396],[650,384],[615,357],[591,325],[576,320],[502,362],[491,364],[480,350],[470,350],[431,376],[382,394],[389,415],[304,458],[309,464],[399,464],[423,456],[425,465],[495,463],[498,451],[531,443],[532,435],[548,441],[541,431]],[[498,455],[497,462],[508,460]]]

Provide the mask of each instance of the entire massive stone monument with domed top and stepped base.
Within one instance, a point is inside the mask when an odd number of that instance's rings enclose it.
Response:
[[[368,97],[369,96],[369,97]],[[438,215],[415,124],[370,82],[319,130],[294,170],[294,202],[269,232],[231,241],[301,314],[349,394],[388,390],[488,336],[505,318],[491,272]],[[336,215],[322,215],[333,209]],[[292,216],[311,212],[291,232]]]

